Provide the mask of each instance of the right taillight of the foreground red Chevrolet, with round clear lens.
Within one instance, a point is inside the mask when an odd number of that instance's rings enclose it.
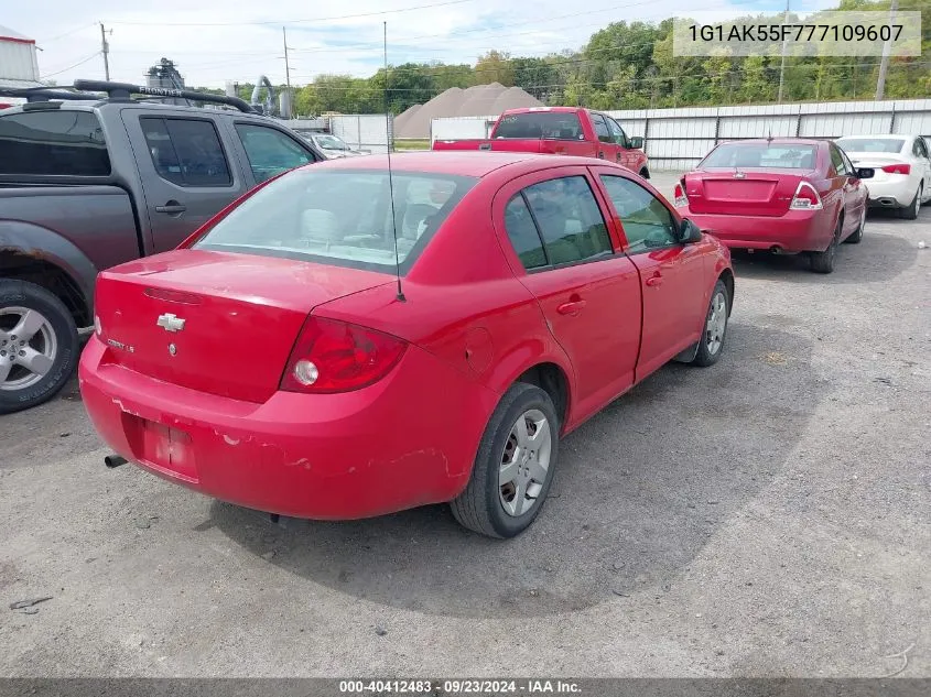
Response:
[[[377,382],[401,360],[404,340],[358,325],[310,317],[281,379],[286,392],[349,392]]]

